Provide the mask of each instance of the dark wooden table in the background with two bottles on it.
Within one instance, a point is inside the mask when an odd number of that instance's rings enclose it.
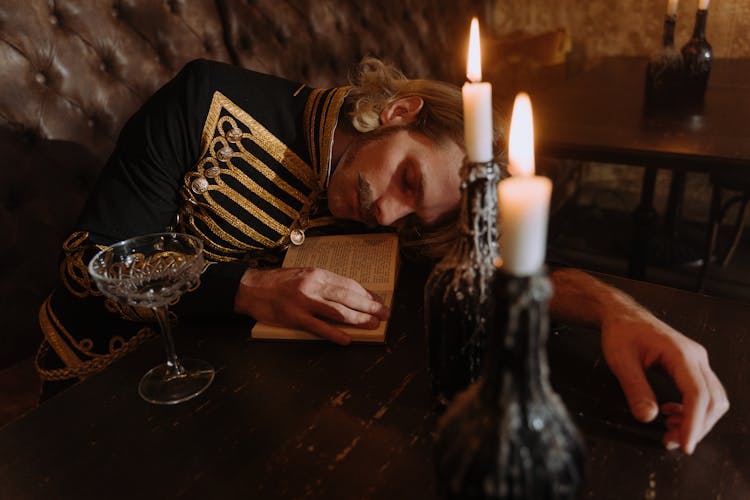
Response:
[[[542,156],[646,167],[629,274],[645,278],[658,169],[673,171],[665,224],[674,232],[685,172],[750,178],[750,59],[716,59],[701,109],[647,109],[646,59],[612,57],[532,95]]]

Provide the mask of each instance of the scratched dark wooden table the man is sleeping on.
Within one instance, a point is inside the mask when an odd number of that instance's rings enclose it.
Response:
[[[387,345],[248,339],[242,323],[183,325],[178,351],[218,375],[196,400],[141,401],[151,342],[0,430],[0,498],[433,498],[423,270],[404,266]],[[693,456],[635,423],[598,334],[551,335],[553,383],[587,447],[582,498],[750,498],[750,306],[608,278],[707,347],[732,409]],[[660,394],[672,391],[653,374]]]

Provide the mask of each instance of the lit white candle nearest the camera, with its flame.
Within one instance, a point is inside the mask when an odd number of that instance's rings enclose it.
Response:
[[[518,94],[513,104],[508,163],[511,177],[497,188],[502,269],[530,276],[544,265],[552,182],[534,175],[534,120],[525,93]]]

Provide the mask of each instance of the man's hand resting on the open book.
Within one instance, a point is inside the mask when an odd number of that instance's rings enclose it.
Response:
[[[374,329],[390,314],[380,297],[356,281],[313,268],[248,269],[237,289],[234,310],[341,345],[351,338],[329,322]]]

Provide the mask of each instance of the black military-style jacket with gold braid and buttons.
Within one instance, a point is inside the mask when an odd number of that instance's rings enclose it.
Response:
[[[166,230],[199,236],[210,264],[172,318],[227,317],[248,266],[279,257],[291,230],[332,223],[324,191],[346,90],[198,60],[154,94],[63,244],[59,286],[39,314],[42,378],[85,377],[153,333],[150,310],[104,298],[90,278],[106,245]]]

